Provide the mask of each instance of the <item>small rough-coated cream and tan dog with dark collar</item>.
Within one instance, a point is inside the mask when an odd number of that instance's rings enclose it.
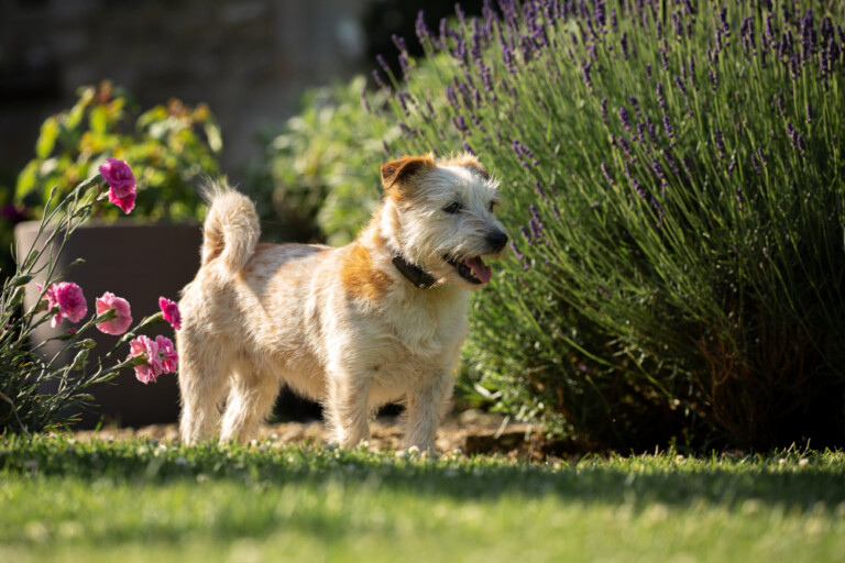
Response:
[[[387,402],[405,406],[405,446],[434,452],[467,335],[469,291],[508,236],[498,181],[471,154],[381,166],[381,206],[341,247],[259,243],[254,205],[206,189],[201,265],[182,292],[180,434],[246,442],[281,386],[320,401],[332,441],[354,448]]]

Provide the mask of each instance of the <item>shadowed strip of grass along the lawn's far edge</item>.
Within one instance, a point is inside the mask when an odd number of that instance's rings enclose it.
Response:
[[[845,454],[783,453],[772,456],[676,459],[674,454],[586,457],[557,466],[496,457],[400,460],[366,451],[320,446],[176,448],[154,441],[73,443],[62,439],[0,439],[0,477],[6,474],[114,481],[132,485],[230,482],[245,486],[283,484],[373,486],[397,493],[458,499],[503,495],[555,495],[567,501],[745,500],[808,510],[845,503]]]

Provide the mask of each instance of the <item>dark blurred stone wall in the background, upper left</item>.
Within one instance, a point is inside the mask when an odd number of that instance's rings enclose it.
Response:
[[[370,0],[0,0],[0,185],[33,155],[41,122],[81,85],[111,79],[143,108],[207,102],[232,176],[256,131],[304,88],[365,64]]]

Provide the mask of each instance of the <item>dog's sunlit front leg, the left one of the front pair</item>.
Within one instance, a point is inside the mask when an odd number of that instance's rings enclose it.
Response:
[[[329,377],[327,410],[333,441],[341,448],[354,448],[370,440],[370,378],[358,374]]]

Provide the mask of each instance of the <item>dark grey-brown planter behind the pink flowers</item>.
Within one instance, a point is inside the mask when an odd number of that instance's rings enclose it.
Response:
[[[14,234],[19,249],[25,252],[35,240],[37,222],[24,222],[15,227]],[[76,258],[85,258],[81,266],[67,269],[66,282],[79,284],[88,303],[86,320],[95,311],[95,299],[111,291],[127,299],[132,307],[133,325],[144,317],[158,311],[158,297],[178,300],[179,290],[194,278],[199,267],[199,246],[202,236],[198,224],[143,223],[130,220],[110,224],[92,222],[77,230],[65,245],[58,261],[57,272],[65,271]],[[26,287],[24,306],[34,305],[37,299],[34,279]],[[56,329],[50,323],[42,324],[34,339],[43,342],[50,336],[67,330],[68,321]],[[169,324],[162,324],[145,331],[151,338],[164,334],[173,339]],[[86,332],[94,338],[97,346],[91,358],[106,354],[118,342],[118,336],[103,334],[96,329]],[[51,356],[61,349],[58,342],[50,343],[45,354]],[[129,354],[119,351],[121,360]],[[61,358],[68,363],[70,354]],[[51,389],[50,386],[53,386]],[[42,393],[55,390],[56,383],[47,383]],[[143,385],[131,369],[124,371],[108,384],[90,388],[97,407],[81,413],[83,428],[97,424],[102,418],[107,423],[138,427],[151,423],[175,422],[179,413],[178,386],[175,375],[162,375],[155,384]]]

